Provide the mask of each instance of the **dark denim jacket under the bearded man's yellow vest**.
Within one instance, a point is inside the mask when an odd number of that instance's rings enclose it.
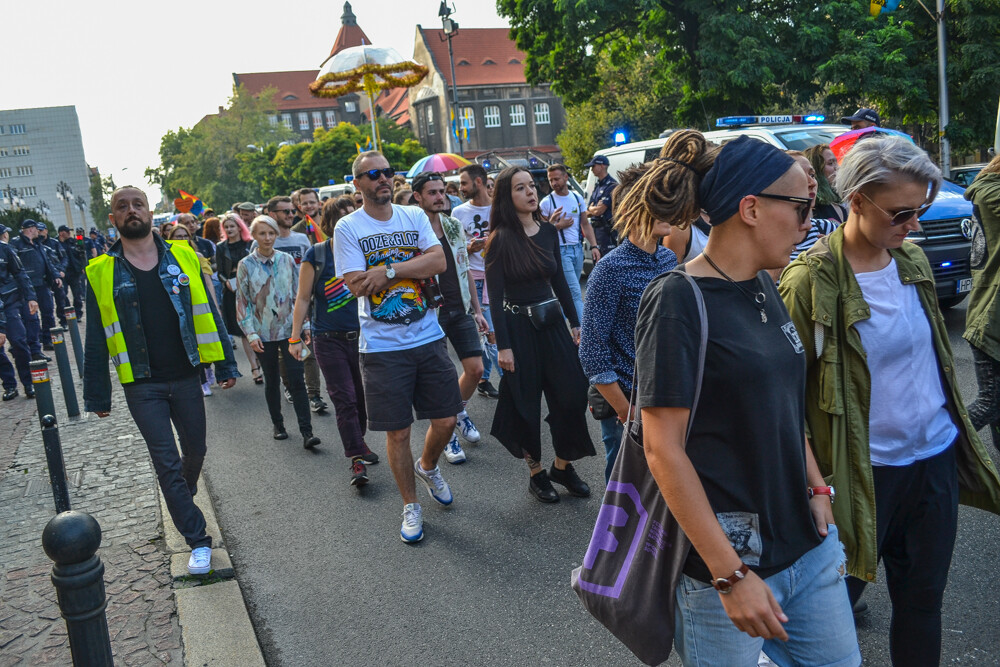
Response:
[[[160,281],[163,289],[170,294],[170,302],[177,310],[180,318],[181,339],[184,341],[184,349],[187,350],[188,359],[192,366],[198,366],[201,359],[198,356],[198,342],[195,338],[194,320],[191,315],[191,302],[188,298],[182,298],[183,294],[173,294],[171,286],[174,277],[167,271],[167,267],[176,264],[173,255],[167,255],[167,242],[158,235],[153,235],[157,252],[160,255]],[[139,316],[138,297],[136,294],[135,278],[129,268],[128,263],[122,255],[121,241],[116,241],[108,250],[108,255],[115,258],[115,282],[114,298],[115,309],[121,323],[122,334],[125,336],[125,346],[128,348],[129,359],[132,363],[132,373],[138,378],[149,377],[149,356],[146,354],[146,338],[142,332],[142,320]],[[210,291],[212,286],[206,287]],[[240,372],[236,368],[236,359],[233,356],[233,346],[223,324],[218,309],[212,298],[208,303],[212,308],[212,319],[215,320],[215,328],[219,332],[219,340],[222,342],[222,352],[225,359],[215,362],[215,377],[219,382],[224,382],[230,378],[240,377]],[[109,367],[108,344],[104,337],[104,326],[101,324],[100,309],[97,306],[97,297],[94,295],[93,287],[87,287],[87,342],[84,346],[84,370],[83,370],[83,402],[87,412],[108,412],[111,410],[111,369]]]

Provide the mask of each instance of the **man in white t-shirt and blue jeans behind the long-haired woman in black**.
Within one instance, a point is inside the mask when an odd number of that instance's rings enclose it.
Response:
[[[576,314],[583,320],[583,292],[580,276],[583,275],[583,238],[590,242],[590,255],[594,262],[601,258],[594,228],[586,216],[587,206],[583,197],[569,189],[569,171],[564,165],[553,164],[548,168],[552,192],[542,197],[539,213],[559,230],[559,254],[562,256],[563,274],[573,294]]]

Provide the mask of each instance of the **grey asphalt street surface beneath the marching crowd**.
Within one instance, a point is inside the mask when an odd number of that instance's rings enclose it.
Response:
[[[946,318],[962,392],[971,400],[976,383],[961,339],[964,304]],[[207,399],[205,473],[269,665],[640,664],[570,588],[570,570],[586,551],[600,507],[601,457],[577,464],[590,498],[563,494],[558,504],[542,505],[528,494],[524,463],[488,435],[494,401],[477,395],[468,410],[482,442],[465,446],[464,465],[441,459],[455,502],[443,508],[418,485],[425,538],[404,544],[384,436],[367,438],[383,461],[369,467],[371,483],[359,492],[348,485],[332,407],[313,419],[323,439],[316,450],[302,448],[287,403],[292,437],[272,440],[263,387],[250,380],[242,351],[237,356],[245,379]],[[602,451],[598,425],[588,420]],[[425,431],[426,422],[415,424],[414,452]],[[963,507],[942,664],[1000,664],[998,559],[1000,518]],[[888,665],[884,581],[865,596],[871,613],[858,626],[862,654],[866,664]],[[679,661],[674,656],[668,664]]]

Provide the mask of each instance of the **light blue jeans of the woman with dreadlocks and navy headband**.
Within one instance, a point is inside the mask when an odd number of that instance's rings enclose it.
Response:
[[[685,665],[702,667],[756,665],[761,650],[782,666],[857,667],[861,652],[844,583],[846,569],[837,527],[830,525],[819,546],[764,580],[788,616],[787,642],[738,630],[710,584],[682,575],[674,648]]]

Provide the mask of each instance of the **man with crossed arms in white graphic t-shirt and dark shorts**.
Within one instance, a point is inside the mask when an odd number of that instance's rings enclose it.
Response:
[[[448,262],[430,220],[412,206],[393,206],[395,170],[378,151],[354,160],[354,184],[364,198],[334,229],[334,261],[361,306],[361,375],[368,429],[386,431],[389,466],[403,496],[404,542],[423,539],[416,479],[442,505],[452,502],[438,458],[462,411],[455,365],[437,313],[421,282]],[[413,414],[429,419],[421,457],[410,452]]]

